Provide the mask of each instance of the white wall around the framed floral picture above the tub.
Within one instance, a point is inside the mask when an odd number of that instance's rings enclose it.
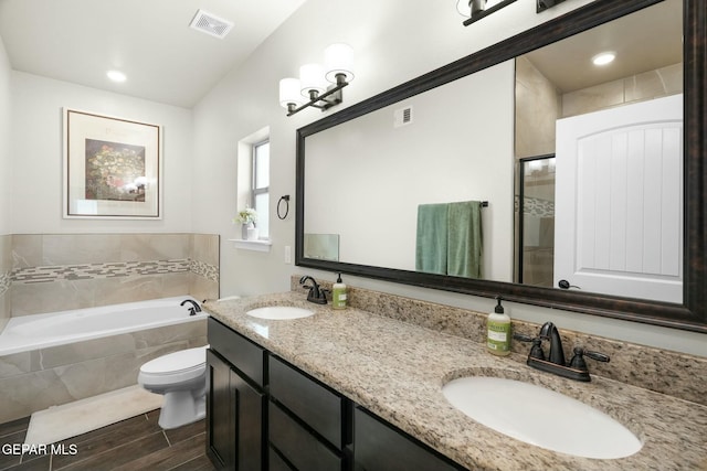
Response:
[[[9,188],[12,191],[12,233],[191,231],[191,173],[194,164],[191,110],[17,71],[11,77],[10,153],[13,178]],[[62,218],[64,107],[163,127],[163,197],[167,203],[162,220]]]

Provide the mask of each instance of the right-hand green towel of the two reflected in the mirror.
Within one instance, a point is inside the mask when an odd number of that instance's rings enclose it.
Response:
[[[447,275],[482,278],[482,204],[449,204]]]

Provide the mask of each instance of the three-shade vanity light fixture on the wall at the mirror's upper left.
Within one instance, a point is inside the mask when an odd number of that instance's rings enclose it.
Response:
[[[354,50],[335,43],[324,51],[324,67],[305,64],[299,67],[299,78],[279,81],[279,105],[287,109],[287,116],[309,106],[324,111],[344,100],[341,89],[354,79]]]

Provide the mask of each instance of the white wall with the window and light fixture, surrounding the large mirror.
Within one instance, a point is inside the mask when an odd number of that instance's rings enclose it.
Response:
[[[295,130],[324,116],[306,110],[285,117],[277,105],[277,82],[297,67],[320,60],[329,43],[345,41],[357,54],[357,76],[345,90],[345,106],[383,92],[484,46],[563,14],[589,0],[563,2],[542,14],[535,1],[520,0],[474,23],[461,25],[454,2],[404,0],[309,0],[266,40],[240,71],[226,76],[194,109],[193,225],[222,235],[221,295],[254,295],[288,289],[289,275],[307,271],[333,280],[334,274],[303,270],[284,263],[294,246],[294,214],[271,222],[270,254],[234,249],[226,240],[235,205],[235,148],[239,139],[271,127],[273,204],[295,190]],[[334,108],[335,113],[337,108]],[[425,290],[372,279],[347,277],[352,286],[487,311],[493,300]],[[707,356],[707,336],[634,322],[568,314],[509,304],[511,315],[535,322],[553,320],[560,328]]]

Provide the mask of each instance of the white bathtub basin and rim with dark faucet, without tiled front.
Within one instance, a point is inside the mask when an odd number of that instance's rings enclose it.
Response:
[[[207,312],[189,315],[190,296],[126,302],[11,318],[0,334],[0,356],[162,325],[196,322]]]

